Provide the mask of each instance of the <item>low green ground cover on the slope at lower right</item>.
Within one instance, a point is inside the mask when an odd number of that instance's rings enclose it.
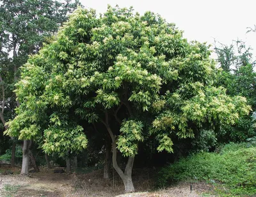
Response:
[[[256,193],[256,143],[230,143],[219,153],[191,155],[163,168],[159,185],[170,182],[206,180],[227,186],[228,193]]]

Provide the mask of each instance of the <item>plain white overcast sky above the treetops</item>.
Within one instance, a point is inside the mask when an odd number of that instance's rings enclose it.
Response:
[[[246,41],[256,56],[256,33],[247,33],[256,25],[256,0],[81,0],[85,8],[104,13],[108,4],[121,8],[132,6],[141,15],[146,11],[159,13],[184,31],[188,40],[230,44],[237,38]]]

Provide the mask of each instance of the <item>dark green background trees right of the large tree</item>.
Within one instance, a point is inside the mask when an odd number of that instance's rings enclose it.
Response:
[[[218,85],[227,88],[228,95],[246,97],[252,106],[252,112],[243,116],[234,126],[223,128],[221,137],[225,141],[245,141],[256,136],[253,128],[252,113],[256,111],[256,72],[252,49],[245,43],[237,40],[231,45],[216,44],[215,52],[218,63],[223,71],[218,75]]]

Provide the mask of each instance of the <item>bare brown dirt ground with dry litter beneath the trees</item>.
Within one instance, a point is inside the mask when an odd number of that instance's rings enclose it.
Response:
[[[30,173],[29,176],[19,175],[19,168],[10,169],[12,175],[0,175],[0,196],[202,196],[212,190],[205,183],[182,183],[166,189],[154,190],[154,180],[149,169],[135,170],[134,187],[138,193],[124,194],[121,180],[114,174],[111,180],[102,178],[102,170],[87,174],[66,173],[54,174],[52,169],[41,169],[40,173]],[[1,168],[3,172],[3,168]],[[207,195],[210,196],[210,195]]]

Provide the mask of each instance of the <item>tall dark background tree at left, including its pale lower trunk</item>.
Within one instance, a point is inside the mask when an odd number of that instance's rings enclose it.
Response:
[[[3,125],[6,122],[5,109],[11,107],[15,116],[13,108],[19,106],[19,100],[15,101],[12,87],[19,79],[20,66],[27,61],[29,54],[38,52],[47,37],[58,31],[61,24],[67,20],[67,14],[78,5],[81,6],[78,1],[72,3],[70,0],[0,1],[0,115]],[[29,141],[24,140],[21,173],[25,174],[28,173],[28,146]]]

